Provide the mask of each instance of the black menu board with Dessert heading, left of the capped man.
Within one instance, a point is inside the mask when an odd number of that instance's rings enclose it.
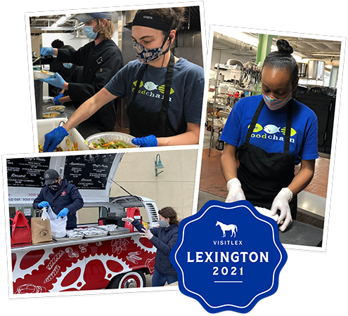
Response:
[[[43,187],[44,172],[49,169],[51,157],[7,159],[9,187]]]

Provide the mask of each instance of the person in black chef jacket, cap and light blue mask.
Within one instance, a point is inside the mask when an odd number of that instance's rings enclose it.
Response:
[[[84,103],[100,91],[123,67],[120,48],[111,39],[114,32],[111,18],[110,12],[77,15],[77,20],[84,22],[86,37],[93,39],[93,41],[75,52],[62,48],[41,48],[41,55],[57,56],[57,62],[72,62],[74,65],[83,66],[81,83],[67,82],[58,73],[53,78],[40,80],[67,90],[70,98],[80,103]],[[116,109],[114,100],[110,100],[105,107],[94,113],[89,121],[100,131],[115,131]],[[47,149],[44,147],[45,152]],[[52,151],[51,149],[49,151]]]

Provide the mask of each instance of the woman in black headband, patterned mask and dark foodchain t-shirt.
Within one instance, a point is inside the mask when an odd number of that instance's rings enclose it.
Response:
[[[184,8],[138,11],[131,28],[137,59],[79,107],[61,128],[61,135],[58,131],[49,135],[49,142],[61,141],[66,131],[105,103],[127,96],[130,134],[136,137],[136,145],[198,144],[204,72],[202,67],[176,58],[170,51],[183,16]]]

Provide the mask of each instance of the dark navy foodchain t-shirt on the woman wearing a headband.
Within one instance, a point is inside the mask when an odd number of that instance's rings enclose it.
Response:
[[[142,63],[133,60],[125,65],[105,86],[114,96],[128,97],[129,102],[136,88],[136,79]],[[165,93],[167,67],[148,65],[136,96],[136,105],[147,112],[159,112]],[[186,123],[200,124],[204,89],[203,68],[180,58],[174,64],[172,88],[169,94],[168,118],[174,129]]]

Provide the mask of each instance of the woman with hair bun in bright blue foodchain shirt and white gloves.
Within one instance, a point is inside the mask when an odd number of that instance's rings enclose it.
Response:
[[[221,171],[226,202],[247,199],[270,209],[270,216],[280,212],[279,229],[284,231],[296,218],[297,194],[314,176],[318,123],[309,107],[292,98],[298,83],[292,47],[284,39],[277,47],[262,66],[262,95],[239,100],[226,121]]]

